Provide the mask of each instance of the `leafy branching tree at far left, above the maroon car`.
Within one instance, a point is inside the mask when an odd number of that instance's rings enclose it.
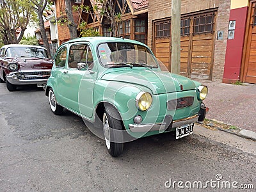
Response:
[[[29,22],[36,20],[29,0],[0,0],[0,38],[2,44],[19,44]],[[17,29],[20,30],[17,36]]]

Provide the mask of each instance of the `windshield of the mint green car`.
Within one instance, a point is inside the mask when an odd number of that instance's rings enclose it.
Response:
[[[98,47],[104,67],[154,67],[157,61],[147,47],[131,43],[105,43]]]

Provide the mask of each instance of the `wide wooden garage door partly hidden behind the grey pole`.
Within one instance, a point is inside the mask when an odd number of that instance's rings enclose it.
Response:
[[[181,17],[180,74],[182,76],[195,79],[212,79],[214,15],[215,12],[208,12]],[[171,32],[170,29],[161,26],[166,23],[170,23],[170,19],[155,23],[154,52],[156,57],[170,70]],[[161,32],[164,29],[168,29],[168,31]]]

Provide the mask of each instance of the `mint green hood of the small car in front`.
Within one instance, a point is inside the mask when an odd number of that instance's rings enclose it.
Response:
[[[141,68],[140,70],[132,68],[131,70],[109,72],[104,74],[101,79],[146,86],[154,95],[179,92],[182,90],[194,90],[196,87],[194,81],[191,81],[187,77],[164,71],[141,70]]]

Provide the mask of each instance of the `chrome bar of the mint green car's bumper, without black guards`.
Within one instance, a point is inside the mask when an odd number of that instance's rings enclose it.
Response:
[[[188,118],[174,120],[172,122],[172,124],[165,122],[165,120],[164,120],[164,122],[159,123],[159,124],[129,124],[129,129],[131,130],[131,132],[148,132],[148,131],[163,132],[166,129],[180,127],[182,125],[187,125],[187,124],[193,124],[193,123],[197,122],[198,116],[199,115],[194,115],[194,116],[190,116]],[[164,118],[164,119],[166,119],[166,118]],[[172,120],[170,120],[170,121],[172,121]],[[172,127],[170,127],[170,126],[172,126]]]

